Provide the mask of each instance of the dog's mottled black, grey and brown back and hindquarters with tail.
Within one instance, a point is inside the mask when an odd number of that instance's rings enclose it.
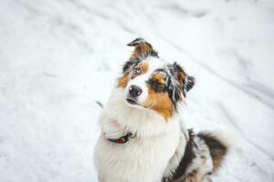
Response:
[[[180,147],[177,148],[177,167],[170,170],[163,177],[163,182],[208,182],[211,174],[221,166],[223,159],[231,147],[229,137],[222,133],[201,132],[194,134],[188,130],[188,142],[184,154],[178,157]],[[179,154],[180,155],[180,154]],[[175,161],[171,160],[170,163]],[[171,165],[171,164],[169,164]]]

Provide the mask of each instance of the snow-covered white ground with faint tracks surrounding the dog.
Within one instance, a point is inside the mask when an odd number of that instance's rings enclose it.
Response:
[[[1,0],[0,181],[95,182],[92,150],[137,36],[197,79],[186,126],[236,147],[215,177],[274,181],[274,2]]]

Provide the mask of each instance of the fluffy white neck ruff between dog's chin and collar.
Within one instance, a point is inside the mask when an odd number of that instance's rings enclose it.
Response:
[[[118,138],[131,132],[139,137],[161,136],[179,126],[178,114],[168,121],[151,109],[132,107],[126,104],[122,88],[115,88],[100,122],[107,137]]]

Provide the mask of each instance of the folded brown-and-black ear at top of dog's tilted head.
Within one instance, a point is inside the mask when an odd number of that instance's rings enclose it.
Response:
[[[143,38],[136,38],[128,46],[135,46],[132,56],[130,58],[131,61],[136,59],[141,59],[145,56],[158,56],[158,53],[153,49],[153,45],[146,42]]]

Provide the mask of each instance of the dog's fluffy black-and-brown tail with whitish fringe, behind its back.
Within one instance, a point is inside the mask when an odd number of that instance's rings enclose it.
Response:
[[[205,140],[205,144],[209,148],[210,156],[213,160],[213,172],[215,172],[221,166],[229,148],[232,147],[231,137],[221,132],[201,132],[197,136]]]

